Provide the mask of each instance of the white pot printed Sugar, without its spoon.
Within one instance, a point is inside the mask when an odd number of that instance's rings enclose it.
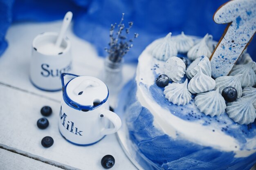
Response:
[[[72,69],[70,40],[63,38],[60,46],[56,46],[57,37],[58,33],[45,32],[37,35],[32,43],[30,81],[40,90],[61,90],[61,73]]]

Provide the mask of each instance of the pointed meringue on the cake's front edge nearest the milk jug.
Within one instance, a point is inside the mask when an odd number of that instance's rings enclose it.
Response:
[[[191,100],[191,93],[188,89],[188,79],[184,83],[170,83],[164,88],[165,98],[177,105],[185,105]]]

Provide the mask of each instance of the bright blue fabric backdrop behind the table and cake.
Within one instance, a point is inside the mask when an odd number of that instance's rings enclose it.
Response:
[[[216,24],[212,17],[227,0],[0,0],[0,55],[7,48],[4,39],[12,22],[51,21],[62,19],[67,11],[74,14],[74,33],[94,44],[99,55],[106,56],[110,24],[134,21],[131,33],[139,38],[125,56],[126,61],[137,61],[138,55],[156,38],[172,32],[204,36],[219,40],[226,25]],[[256,38],[248,52],[256,59]],[[86,53],[86,51],[85,51]]]

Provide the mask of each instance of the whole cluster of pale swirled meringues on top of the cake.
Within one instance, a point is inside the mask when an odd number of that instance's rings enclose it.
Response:
[[[209,57],[216,44],[208,34],[196,41],[197,38],[183,32],[176,37],[171,37],[169,33],[150,47],[155,58],[166,61],[164,74],[173,82],[164,88],[166,99],[173,104],[185,105],[191,100],[191,93],[196,93],[195,105],[205,115],[219,116],[226,110],[229,117],[239,124],[254,122],[256,88],[252,86],[256,84],[256,63],[244,52],[229,75],[214,80]],[[176,57],[177,53],[187,53],[193,62],[186,68],[184,62]],[[238,98],[226,103],[221,93],[229,86],[236,88]]]

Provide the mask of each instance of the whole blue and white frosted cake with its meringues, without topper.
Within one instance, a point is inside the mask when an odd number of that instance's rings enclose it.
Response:
[[[208,34],[168,34],[139,56],[117,109],[146,170],[250,170],[256,163],[255,62],[243,53],[229,76],[214,80],[208,57],[215,46]],[[165,87],[155,82],[162,74],[170,79]],[[221,95],[227,86],[236,88],[234,102]]]

